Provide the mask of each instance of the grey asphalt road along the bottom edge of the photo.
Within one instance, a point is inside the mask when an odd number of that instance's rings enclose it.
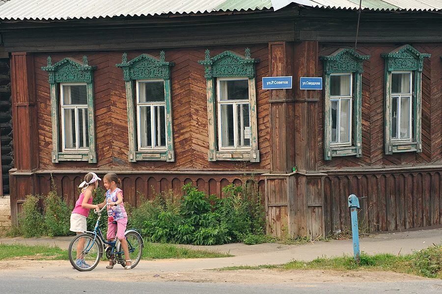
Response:
[[[117,280],[118,277],[115,277]],[[294,286],[245,285],[227,283],[190,282],[137,282],[122,283],[108,281],[78,281],[72,279],[23,278],[9,275],[0,276],[1,293],[4,294],[84,294],[84,293],[125,293],[125,294],[349,294],[349,293],[442,293],[442,281],[413,281],[402,283],[299,283]]]

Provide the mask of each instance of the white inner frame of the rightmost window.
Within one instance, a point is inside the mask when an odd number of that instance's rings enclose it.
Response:
[[[390,134],[391,142],[412,142],[413,141],[413,72],[412,71],[392,71],[390,74],[390,85],[391,85],[391,77],[394,73],[409,73],[410,74],[410,93],[396,94],[392,92],[392,87],[390,87],[390,105],[393,105],[393,97],[396,97],[398,100],[397,103],[397,124],[396,124],[396,134],[398,138],[393,138]],[[401,105],[402,105],[402,97],[408,97],[409,101],[409,138],[400,138],[401,135]],[[391,115],[391,124],[393,123],[393,116]],[[393,129],[391,129],[392,131]]]

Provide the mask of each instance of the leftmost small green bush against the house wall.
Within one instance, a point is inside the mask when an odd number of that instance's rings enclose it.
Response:
[[[23,211],[19,216],[19,225],[25,238],[40,237],[45,230],[43,214],[39,208],[40,196],[28,195],[23,202]]]

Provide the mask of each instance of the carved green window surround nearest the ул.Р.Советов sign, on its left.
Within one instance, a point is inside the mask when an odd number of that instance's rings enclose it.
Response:
[[[233,160],[259,162],[257,112],[256,112],[256,79],[255,64],[259,59],[250,58],[250,49],[245,50],[245,55],[232,51],[224,51],[210,57],[210,51],[205,51],[205,59],[198,61],[205,67],[204,77],[207,87],[207,117],[209,123],[209,161]],[[217,79],[244,78],[248,79],[249,86],[249,139],[250,148],[219,148],[217,134]]]

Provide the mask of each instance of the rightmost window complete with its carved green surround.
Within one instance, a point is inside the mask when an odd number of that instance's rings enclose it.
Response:
[[[430,54],[404,45],[385,58],[385,153],[421,152],[421,74]]]

